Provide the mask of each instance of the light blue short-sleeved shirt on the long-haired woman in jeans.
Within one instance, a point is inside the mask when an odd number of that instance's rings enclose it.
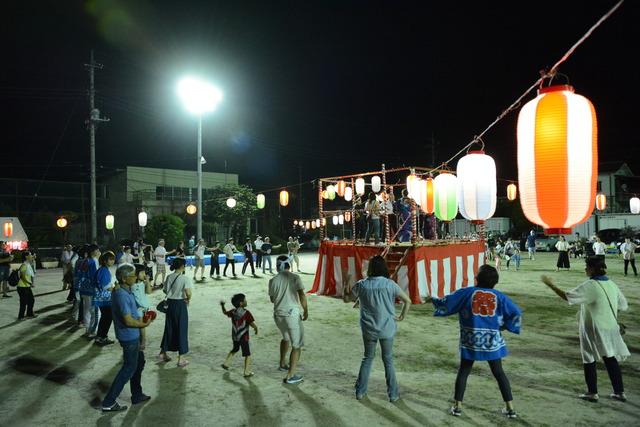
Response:
[[[400,286],[382,276],[358,281],[351,294],[360,301],[360,328],[370,339],[392,338],[396,334],[396,298]]]

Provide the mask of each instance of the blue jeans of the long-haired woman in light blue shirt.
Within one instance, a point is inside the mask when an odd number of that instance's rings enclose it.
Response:
[[[398,397],[398,382],[396,381],[396,369],[393,366],[393,338],[371,339],[363,335],[362,341],[364,342],[364,357],[360,364],[358,381],[356,381],[356,396],[363,396],[367,393],[371,365],[376,355],[376,346],[380,341],[384,376],[387,380],[387,395],[389,399],[395,400]]]

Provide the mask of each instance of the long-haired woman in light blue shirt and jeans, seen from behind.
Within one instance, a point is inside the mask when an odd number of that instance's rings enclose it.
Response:
[[[389,401],[395,402],[398,394],[398,382],[393,365],[393,339],[398,329],[397,323],[402,321],[409,307],[411,299],[400,286],[389,279],[389,270],[383,257],[376,255],[369,260],[367,278],[351,286],[351,276],[346,269],[343,271],[346,287],[342,293],[344,302],[360,302],[360,329],[364,342],[364,357],[360,364],[360,372],[356,381],[356,399],[362,400],[367,394],[371,365],[376,355],[376,347],[380,342],[384,376],[387,381],[387,396]],[[399,315],[396,315],[395,301],[400,299],[404,305]]]

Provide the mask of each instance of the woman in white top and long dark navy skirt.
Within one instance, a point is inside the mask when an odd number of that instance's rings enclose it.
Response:
[[[174,258],[171,262],[173,273],[167,276],[162,290],[167,295],[167,313],[164,322],[164,333],[160,344],[158,358],[162,362],[168,362],[171,358],[167,351],[178,352],[178,367],[183,368],[189,364],[184,355],[189,352],[189,311],[187,307],[191,301],[193,283],[185,274],[185,260]]]

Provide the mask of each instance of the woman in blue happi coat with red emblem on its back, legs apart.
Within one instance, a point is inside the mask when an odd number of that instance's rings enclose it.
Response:
[[[502,370],[502,358],[508,354],[501,331],[520,333],[520,308],[506,295],[493,289],[498,283],[498,271],[483,265],[476,276],[475,287],[463,288],[442,299],[432,298],[435,316],[458,313],[460,319],[460,368],[456,377],[455,403],[451,414],[462,415],[462,399],[473,362],[486,360],[498,381],[506,408],[502,413],[516,418],[509,380]]]

